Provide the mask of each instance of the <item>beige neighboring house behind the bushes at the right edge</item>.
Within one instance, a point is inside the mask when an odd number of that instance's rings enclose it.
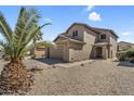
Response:
[[[134,43],[126,42],[126,41],[118,42],[118,51],[125,51],[129,49],[134,49]]]

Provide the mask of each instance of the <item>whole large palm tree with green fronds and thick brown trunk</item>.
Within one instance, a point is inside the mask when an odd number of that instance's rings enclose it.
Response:
[[[29,90],[32,84],[29,72],[23,64],[23,55],[35,36],[50,23],[37,26],[40,15],[35,9],[22,8],[15,29],[12,30],[5,17],[0,13],[0,33],[4,41],[0,45],[4,48],[11,61],[4,65],[0,75],[0,91],[23,93]]]

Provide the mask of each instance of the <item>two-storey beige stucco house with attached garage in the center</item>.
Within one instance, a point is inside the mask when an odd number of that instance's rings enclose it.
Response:
[[[55,46],[49,49],[48,58],[65,62],[116,58],[117,39],[112,29],[73,23],[54,39]]]

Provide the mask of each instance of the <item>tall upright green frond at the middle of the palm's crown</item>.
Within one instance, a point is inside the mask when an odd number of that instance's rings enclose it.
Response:
[[[22,8],[15,28],[16,45],[19,46],[17,47],[16,55],[18,54],[21,46],[23,46],[23,41],[26,40],[28,33],[35,28],[38,20],[39,15],[34,9],[27,12],[26,9]]]

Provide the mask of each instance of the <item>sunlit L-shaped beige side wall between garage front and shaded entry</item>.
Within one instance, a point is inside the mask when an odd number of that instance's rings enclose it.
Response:
[[[69,61],[82,61],[91,58],[93,45],[96,40],[96,34],[90,29],[85,29],[81,31],[83,35],[83,41],[85,45],[82,45],[81,49],[69,49]],[[76,45],[75,45],[76,46]]]

